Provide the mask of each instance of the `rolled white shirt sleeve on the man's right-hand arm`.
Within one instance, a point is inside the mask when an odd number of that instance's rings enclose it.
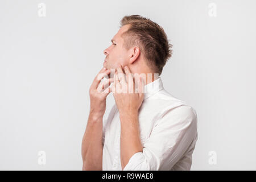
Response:
[[[123,171],[171,170],[196,137],[196,111],[187,105],[167,108],[144,142],[143,151],[131,156]]]

